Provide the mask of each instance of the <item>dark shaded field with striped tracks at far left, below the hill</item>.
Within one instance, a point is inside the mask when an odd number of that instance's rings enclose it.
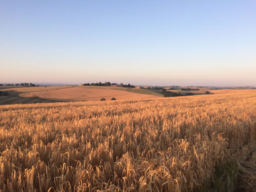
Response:
[[[35,98],[22,98],[22,97],[0,97],[0,105],[19,104],[19,103],[56,103],[61,101],[35,99]]]

